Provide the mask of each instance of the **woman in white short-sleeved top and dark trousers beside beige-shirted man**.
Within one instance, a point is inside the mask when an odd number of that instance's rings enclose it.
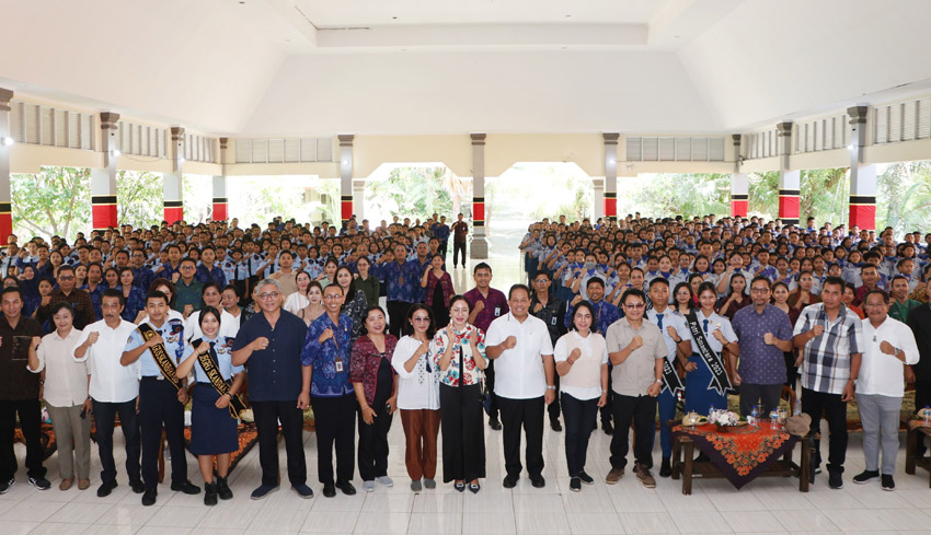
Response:
[[[583,482],[595,482],[585,473],[588,437],[598,408],[608,403],[608,346],[604,336],[591,332],[597,325],[591,304],[578,303],[572,316],[572,330],[561,336],[553,349],[565,419],[568,488],[574,492],[582,490]]]

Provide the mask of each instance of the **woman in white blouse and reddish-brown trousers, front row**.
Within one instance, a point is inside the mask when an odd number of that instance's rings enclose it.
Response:
[[[439,374],[430,363],[430,339],[435,327],[430,310],[412,305],[398,340],[391,365],[398,372],[398,408],[407,438],[404,463],[411,476],[411,490],[436,488],[436,437],[439,433]]]

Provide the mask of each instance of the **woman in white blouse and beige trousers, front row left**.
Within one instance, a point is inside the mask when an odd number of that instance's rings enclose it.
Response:
[[[45,370],[44,398],[55,442],[58,446],[58,473],[61,490],[74,482],[77,465],[78,488],[91,486],[91,398],[88,396],[87,362],[76,362],[74,352],[81,332],[72,327],[74,311],[68,303],[51,307],[55,333],[45,335],[36,348],[30,347],[28,370],[41,373]],[[72,446],[73,441],[73,446]]]

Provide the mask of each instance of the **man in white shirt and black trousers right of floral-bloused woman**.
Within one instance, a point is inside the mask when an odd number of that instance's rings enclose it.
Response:
[[[493,321],[485,336],[485,351],[495,361],[495,396],[504,426],[503,486],[514,488],[520,464],[520,428],[527,434],[526,461],[535,488],[543,479],[543,409],[555,399],[553,342],[547,324],[529,314],[530,289],[514,284],[508,294],[510,312]]]

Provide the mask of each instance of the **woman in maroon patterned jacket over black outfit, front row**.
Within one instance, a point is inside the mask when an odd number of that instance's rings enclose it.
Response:
[[[359,402],[359,476],[363,489],[371,492],[375,481],[394,485],[388,477],[388,431],[398,408],[398,377],[391,367],[398,339],[384,334],[380,306],[369,306],[364,314],[364,334],[353,342],[349,381]]]

